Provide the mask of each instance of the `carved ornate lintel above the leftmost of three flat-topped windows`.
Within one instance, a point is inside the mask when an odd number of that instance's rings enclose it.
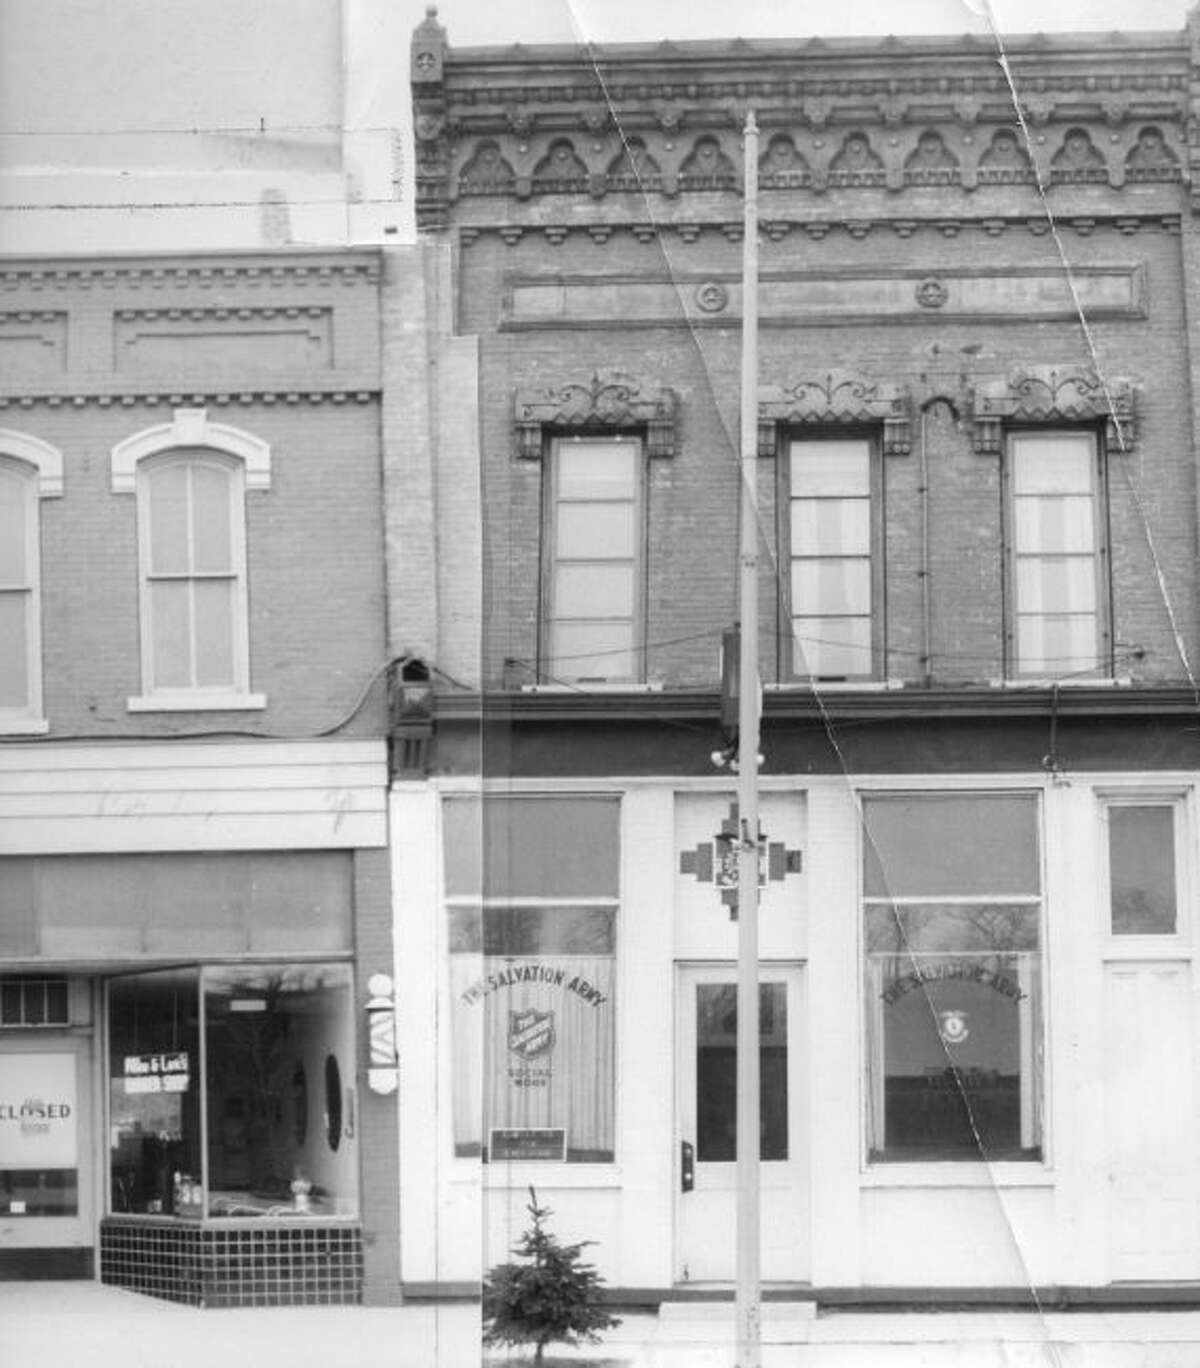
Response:
[[[543,435],[644,428],[647,456],[675,456],[675,390],[617,373],[594,375],[553,390],[517,390],[517,456],[540,460]]]

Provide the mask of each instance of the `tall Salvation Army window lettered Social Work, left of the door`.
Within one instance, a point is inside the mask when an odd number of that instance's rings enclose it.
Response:
[[[614,1157],[618,810],[443,806],[457,1155]]]

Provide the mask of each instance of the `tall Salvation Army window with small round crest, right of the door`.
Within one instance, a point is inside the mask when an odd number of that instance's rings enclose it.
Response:
[[[869,1157],[1040,1159],[1036,799],[862,807]]]

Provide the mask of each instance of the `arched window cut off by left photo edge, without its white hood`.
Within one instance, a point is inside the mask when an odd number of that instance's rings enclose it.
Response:
[[[37,471],[0,456],[0,729],[41,715]]]

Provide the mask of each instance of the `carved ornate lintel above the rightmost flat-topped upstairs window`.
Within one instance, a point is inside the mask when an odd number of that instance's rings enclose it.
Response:
[[[1100,423],[1108,450],[1130,451],[1137,438],[1136,389],[1104,380],[1084,365],[1026,367],[1010,376],[980,380],[971,397],[976,451],[999,454],[1006,424]]]

